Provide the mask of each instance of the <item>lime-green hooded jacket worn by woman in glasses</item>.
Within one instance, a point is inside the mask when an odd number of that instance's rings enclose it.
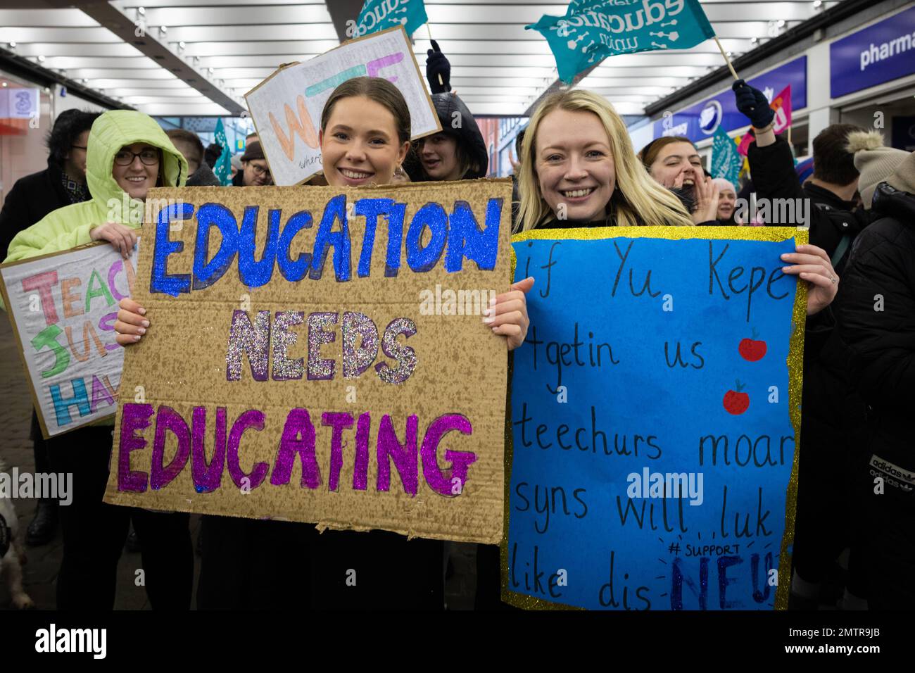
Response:
[[[111,110],[92,125],[86,152],[86,183],[91,201],[74,203],[48,213],[40,222],[19,233],[9,245],[7,262],[70,250],[92,243],[93,227],[120,222],[134,229],[128,197],[112,177],[114,155],[125,145],[147,143],[162,150],[161,171],[167,187],[183,187],[188,178],[188,160],[172,145],[165,131],[147,114]]]

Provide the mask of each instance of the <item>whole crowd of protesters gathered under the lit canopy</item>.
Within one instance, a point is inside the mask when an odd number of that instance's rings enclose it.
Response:
[[[476,179],[489,165],[467,106],[450,91],[450,66],[433,43],[426,74],[443,130],[411,142],[403,95],[388,81],[356,78],[331,94],[320,119],[323,177],[310,184],[359,187],[398,181]],[[832,602],[846,610],[915,605],[912,484],[876,494],[870,463],[915,474],[909,392],[915,385],[915,160],[875,132],[831,125],[813,138],[813,175],[803,184],[762,92],[734,84],[737,109],[755,134],[749,176],[759,199],[811,204],[809,243],[782,255],[808,287],[798,511],[791,607]],[[458,113],[462,124],[450,124]],[[48,138],[48,168],[21,179],[0,212],[6,261],[107,241],[131,255],[138,223],[113,221],[106,203],[143,201],[153,187],[214,186],[221,147],[185,130],[164,132],[138,112],[61,114]],[[623,119],[602,96],[556,92],[519,137],[514,229],[592,226],[735,226],[737,186],[705,173],[686,137],[632,147]],[[88,158],[87,158],[88,157]],[[234,186],[272,184],[256,136],[232,164]],[[306,187],[298,189],[308,189]],[[784,223],[802,224],[802,223]],[[841,280],[841,283],[840,283]],[[490,320],[511,351],[525,340],[525,293],[533,278],[497,298]],[[880,297],[880,309],[875,298]],[[156,315],[123,299],[117,341],[155,330]],[[42,501],[27,529],[41,545],[63,530],[58,607],[110,609],[115,572],[133,522],[154,609],[188,609],[193,550],[188,515],[107,505],[111,421],[65,439],[42,440],[32,418],[36,470],[72,472],[70,507]],[[66,450],[79,445],[79,451]],[[203,609],[313,607],[440,610],[448,546],[375,531],[318,535],[315,526],[203,516],[197,604]],[[296,568],[301,581],[285,574]],[[358,589],[343,586],[347,569]],[[329,578],[329,579],[328,579]],[[499,549],[477,550],[478,609],[500,609]],[[348,591],[349,589],[349,591]]]

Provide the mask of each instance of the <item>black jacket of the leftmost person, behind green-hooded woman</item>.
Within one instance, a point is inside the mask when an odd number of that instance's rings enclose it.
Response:
[[[16,180],[6,193],[0,210],[0,262],[3,262],[16,233],[41,220],[48,212],[70,205],[63,187],[63,174],[48,161],[48,168]]]

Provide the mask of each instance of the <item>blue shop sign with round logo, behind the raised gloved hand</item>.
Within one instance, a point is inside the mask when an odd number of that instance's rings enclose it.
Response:
[[[791,60],[769,72],[748,80],[750,86],[771,97],[791,85],[791,108],[807,107],[807,57]],[[729,84],[728,84],[729,85]],[[690,105],[654,123],[654,137],[686,136],[694,143],[715,136],[718,128],[733,131],[749,125],[746,116],[737,111],[734,92],[730,89]],[[638,148],[637,148],[638,149]]]

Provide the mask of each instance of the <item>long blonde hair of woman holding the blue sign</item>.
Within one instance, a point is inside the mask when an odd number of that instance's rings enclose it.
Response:
[[[612,218],[619,226],[675,225],[693,226],[683,203],[652,179],[635,156],[629,132],[622,118],[602,96],[582,89],[556,92],[533,113],[522,144],[521,173],[518,190],[521,203],[518,224],[522,231],[534,229],[546,222],[553,211],[540,193],[540,180],[534,168],[537,129],[547,114],[554,110],[597,114],[604,125],[616,171],[616,187],[608,202],[608,223]]]

